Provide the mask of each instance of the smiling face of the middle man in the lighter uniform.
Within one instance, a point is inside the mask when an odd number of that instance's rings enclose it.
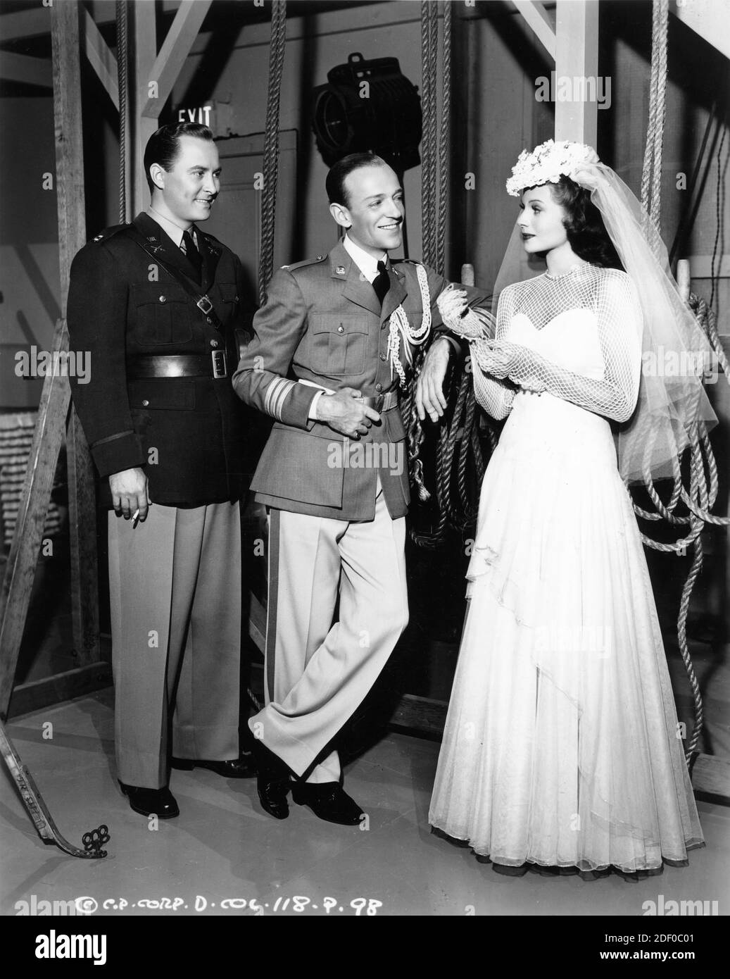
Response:
[[[382,163],[360,166],[344,178],[344,189],[347,201],[340,212],[349,222],[348,237],[376,258],[400,248],[405,206],[395,171]]]

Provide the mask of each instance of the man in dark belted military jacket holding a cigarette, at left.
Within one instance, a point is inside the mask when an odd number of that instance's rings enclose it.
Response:
[[[170,817],[170,762],[253,773],[239,748],[239,501],[255,460],[231,387],[241,262],[199,227],[219,191],[212,133],[162,126],[145,171],[150,209],[73,259],[68,333],[90,353],[73,402],[114,508],[117,776],[133,810]]]

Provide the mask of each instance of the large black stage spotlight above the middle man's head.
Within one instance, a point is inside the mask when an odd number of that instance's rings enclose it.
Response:
[[[372,150],[403,173],[421,161],[421,97],[397,58],[365,61],[359,52],[327,72],[312,93],[314,135],[328,166]]]

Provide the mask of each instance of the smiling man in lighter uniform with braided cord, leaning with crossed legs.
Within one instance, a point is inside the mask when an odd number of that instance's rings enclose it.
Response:
[[[269,507],[269,598],[266,706],[249,723],[268,813],[289,815],[291,787],[317,816],[358,824],[333,742],[408,622],[398,381],[433,317],[417,401],[435,420],[452,342],[438,336],[443,278],[388,260],[402,243],[395,172],[353,154],[332,167],[327,192],[344,238],[277,271],[233,377],[275,419],[251,483]],[[468,290],[471,304],[485,299]]]

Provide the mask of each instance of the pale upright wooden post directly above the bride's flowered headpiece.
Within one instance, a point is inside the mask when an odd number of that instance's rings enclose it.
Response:
[[[558,0],[556,7],[555,138],[596,145],[598,104],[579,96],[588,79],[598,84],[598,4],[595,0]],[[573,84],[573,97],[561,99],[562,78]],[[576,91],[577,89],[577,91]]]

